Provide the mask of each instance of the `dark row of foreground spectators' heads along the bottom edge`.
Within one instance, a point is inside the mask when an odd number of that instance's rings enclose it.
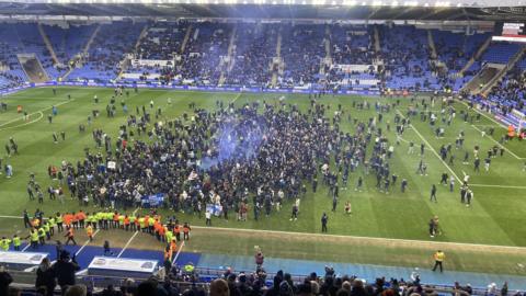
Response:
[[[124,280],[121,284],[108,285],[105,288],[88,288],[77,284],[75,272],[78,265],[68,257],[60,258],[50,265],[46,260],[38,266],[36,274],[37,296],[437,296],[435,286],[421,283],[418,271],[409,278],[377,277],[367,283],[355,275],[339,275],[332,266],[325,266],[324,275],[312,272],[304,278],[294,278],[289,273],[278,271],[270,277],[263,266],[258,266],[254,272],[233,272],[227,270],[222,275],[206,283],[199,280],[197,271],[175,271],[164,278],[151,276],[148,280],[136,282],[133,278]],[[58,273],[57,273],[58,272]],[[58,282],[57,282],[58,280]],[[12,277],[5,270],[0,270],[1,295],[19,296],[23,288],[10,286]],[[58,283],[58,285],[57,285]],[[54,293],[55,287],[60,287]],[[49,289],[47,289],[49,288]],[[26,292],[27,293],[27,292]],[[473,288],[470,284],[461,285],[455,282],[443,293],[453,295],[471,295]],[[479,291],[479,293],[481,293]],[[492,283],[483,292],[487,296],[523,296],[521,292],[508,291],[507,283],[501,287]]]

